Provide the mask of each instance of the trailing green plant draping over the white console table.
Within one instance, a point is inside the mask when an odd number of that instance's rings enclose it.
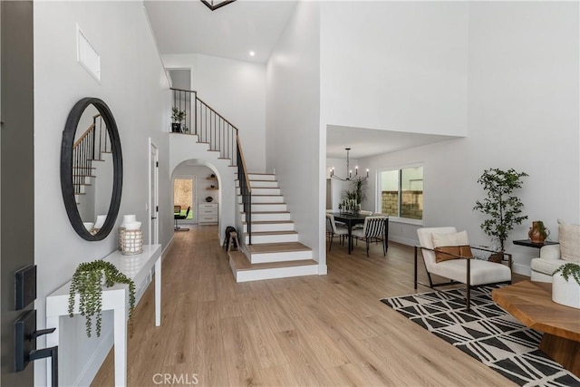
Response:
[[[129,285],[129,328],[132,334],[132,316],[135,309],[135,283],[133,280],[122,274],[111,262],[102,260],[85,262],[76,268],[69,293],[69,315],[73,317],[74,295],[78,293],[79,311],[86,318],[85,327],[88,337],[91,337],[93,316],[96,320],[97,337],[101,336],[102,286],[111,287],[115,284]]]

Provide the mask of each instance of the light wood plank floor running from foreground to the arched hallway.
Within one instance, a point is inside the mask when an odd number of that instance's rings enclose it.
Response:
[[[391,243],[385,257],[373,245],[367,258],[363,244],[348,256],[334,240],[327,276],[236,284],[217,233],[176,233],[161,326],[153,285],[136,309],[130,386],[159,385],[156,374],[174,385],[513,385],[379,301],[415,293],[411,247]],[[93,385],[113,385],[112,351]]]

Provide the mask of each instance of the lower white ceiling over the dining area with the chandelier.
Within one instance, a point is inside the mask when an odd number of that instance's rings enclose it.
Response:
[[[363,159],[457,138],[436,134],[378,131],[328,125],[326,131],[326,157],[329,159],[346,159],[346,150],[344,148],[351,148],[351,159]]]

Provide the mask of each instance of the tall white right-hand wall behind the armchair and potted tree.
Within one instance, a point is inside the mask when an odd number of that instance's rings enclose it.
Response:
[[[467,229],[489,244],[472,211],[485,193],[484,169],[526,171],[517,195],[529,217],[507,241],[515,271],[529,275],[537,250],[517,247],[542,219],[557,240],[557,218],[580,221],[579,39],[577,3],[469,4],[469,136],[360,160],[362,168],[424,163],[423,224]],[[375,181],[369,193],[376,200]],[[417,242],[417,226],[391,222],[391,239]]]

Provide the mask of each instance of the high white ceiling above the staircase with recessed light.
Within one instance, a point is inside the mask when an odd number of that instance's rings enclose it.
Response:
[[[296,1],[237,0],[216,11],[199,0],[144,4],[160,53],[203,53],[266,63]],[[250,51],[256,55],[250,56]]]

